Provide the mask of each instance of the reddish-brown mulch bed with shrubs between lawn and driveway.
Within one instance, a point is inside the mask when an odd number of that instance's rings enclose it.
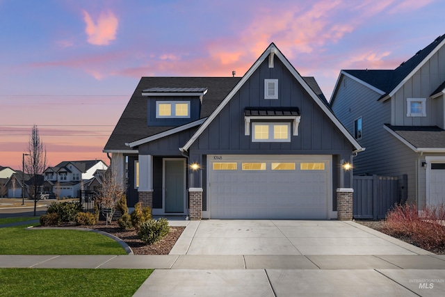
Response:
[[[185,228],[186,227],[170,227],[170,232],[168,232],[163,239],[152,244],[151,246],[141,241],[134,229],[122,230],[120,229],[118,223],[114,221],[111,222],[111,224],[108,224],[107,227],[104,221],[99,220],[97,225],[94,225],[92,229],[113,234],[114,236],[122,239],[122,241],[127,243],[131,250],[133,250],[134,255],[168,255]]]

